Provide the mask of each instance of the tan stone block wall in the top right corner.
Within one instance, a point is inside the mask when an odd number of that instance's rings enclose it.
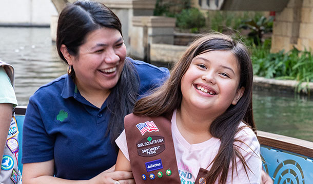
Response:
[[[276,14],[271,52],[313,49],[313,0],[289,0],[287,7]]]

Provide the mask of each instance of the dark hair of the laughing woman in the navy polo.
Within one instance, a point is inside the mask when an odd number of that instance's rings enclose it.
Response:
[[[92,1],[76,1],[67,5],[58,18],[56,32],[56,48],[58,55],[66,63],[61,52],[64,44],[72,56],[79,55],[79,48],[85,43],[88,33],[100,28],[112,28],[122,35],[121,21],[112,10],[102,3]],[[74,68],[71,77],[74,79]],[[118,83],[111,89],[107,99],[110,110],[110,121],[106,135],[110,134],[112,144],[124,129],[124,117],[131,113],[138,96],[138,74],[130,61],[125,59],[122,74]],[[122,93],[123,91],[123,93]]]

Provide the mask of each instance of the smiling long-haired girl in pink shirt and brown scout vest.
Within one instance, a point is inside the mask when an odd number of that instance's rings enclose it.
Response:
[[[243,43],[222,34],[195,40],[164,85],[125,118],[115,170],[131,170],[136,183],[260,183],[252,78]]]

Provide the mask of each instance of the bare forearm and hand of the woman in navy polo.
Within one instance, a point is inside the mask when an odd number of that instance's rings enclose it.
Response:
[[[131,172],[115,171],[108,169],[90,180],[68,180],[53,177],[54,160],[40,163],[29,163],[23,165],[23,184],[32,183],[60,183],[60,184],[106,184],[119,181],[121,184],[134,183]],[[88,172],[88,171],[86,171]]]

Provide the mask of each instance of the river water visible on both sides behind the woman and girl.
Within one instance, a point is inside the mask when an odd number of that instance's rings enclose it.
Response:
[[[49,28],[0,28],[0,59],[15,67],[19,105],[27,105],[38,87],[66,73]],[[254,91],[253,112],[258,130],[313,142],[313,100]]]

